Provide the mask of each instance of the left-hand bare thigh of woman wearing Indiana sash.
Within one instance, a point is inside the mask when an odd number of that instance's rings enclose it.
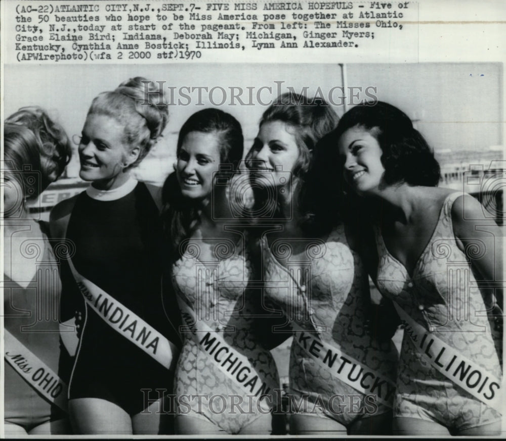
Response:
[[[76,398],[68,402],[70,422],[76,434],[132,435],[130,415],[100,398]]]

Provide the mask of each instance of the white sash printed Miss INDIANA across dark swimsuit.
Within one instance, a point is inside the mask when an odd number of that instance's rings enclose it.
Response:
[[[86,305],[90,306],[112,329],[162,366],[173,369],[177,362],[177,347],[137,314],[123,306],[95,283],[81,276],[70,257],[67,260],[77,286],[86,300]]]

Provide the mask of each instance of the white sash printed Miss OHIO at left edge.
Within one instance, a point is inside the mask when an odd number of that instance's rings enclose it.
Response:
[[[7,329],[4,358],[41,396],[67,412],[67,385]]]

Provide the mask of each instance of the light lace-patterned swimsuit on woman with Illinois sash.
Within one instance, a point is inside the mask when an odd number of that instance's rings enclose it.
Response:
[[[466,256],[457,247],[451,207],[462,193],[448,195],[434,233],[413,275],[387,250],[376,228],[377,285],[417,323],[498,378],[501,368],[485,305]],[[465,196],[469,197],[469,196]],[[469,311],[469,317],[462,317]],[[480,314],[475,312],[482,311]],[[459,317],[462,317],[459,319]],[[500,414],[432,367],[404,335],[394,400],[394,416],[435,421],[466,429],[492,423]]]

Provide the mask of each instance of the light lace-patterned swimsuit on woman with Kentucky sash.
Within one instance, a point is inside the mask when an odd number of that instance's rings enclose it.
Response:
[[[395,382],[397,352],[394,345],[392,342],[379,344],[364,329],[363,292],[368,290],[368,278],[360,258],[348,247],[344,227],[335,228],[324,244],[317,244],[313,250],[308,249],[311,264],[305,284],[299,282],[293,269],[287,269],[278,262],[275,257],[276,242],[277,240],[269,247],[264,236],[264,281],[269,300],[279,305],[288,318],[291,317],[302,329],[309,332],[317,330],[322,341],[369,368],[383,372]],[[279,246],[278,250],[282,251],[281,248]],[[372,416],[365,410],[364,395],[332,377],[296,341],[291,346],[289,383],[290,395],[297,403],[304,395],[308,396],[309,410],[313,409],[315,403],[323,402],[325,412],[318,413],[318,416],[330,417],[343,425]],[[349,400],[342,402],[332,399],[336,394],[345,397],[360,396],[360,407],[364,413],[357,413],[357,406],[354,412]],[[373,415],[388,410],[388,407],[378,404]],[[308,413],[311,414],[315,415]]]

